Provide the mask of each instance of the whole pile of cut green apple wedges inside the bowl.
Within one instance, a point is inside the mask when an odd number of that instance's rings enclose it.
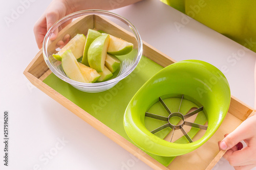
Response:
[[[133,50],[133,44],[113,35],[89,29],[87,36],[77,34],[61,50],[53,54],[61,61],[65,74],[82,83],[109,80],[121,65],[114,54],[122,57]],[[77,59],[82,57],[81,62]]]

